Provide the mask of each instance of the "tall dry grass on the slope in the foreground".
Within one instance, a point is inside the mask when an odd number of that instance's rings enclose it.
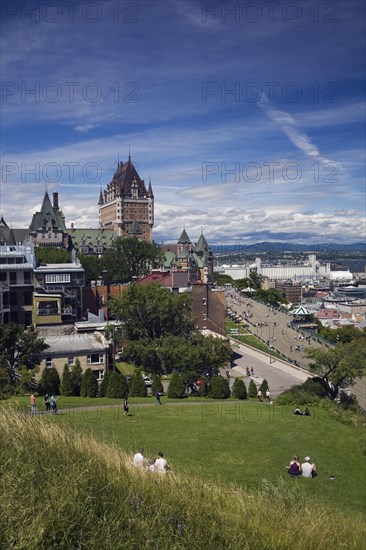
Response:
[[[247,493],[131,466],[111,445],[0,408],[0,547],[318,550],[363,547],[364,518],[303,500],[296,482]]]

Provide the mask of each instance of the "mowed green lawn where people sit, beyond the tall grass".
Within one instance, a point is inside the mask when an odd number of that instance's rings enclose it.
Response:
[[[132,405],[70,410],[45,421],[71,424],[76,430],[112,442],[132,454],[140,447],[155,458],[162,450],[174,471],[205,480],[237,484],[249,490],[267,479],[283,477],[298,484],[306,498],[365,512],[365,454],[360,430],[331,418],[322,409],[297,417],[290,407],[233,402],[192,405]],[[292,479],[285,466],[293,454],[310,455],[315,479]],[[335,476],[335,480],[330,479]],[[289,510],[290,513],[290,510]]]

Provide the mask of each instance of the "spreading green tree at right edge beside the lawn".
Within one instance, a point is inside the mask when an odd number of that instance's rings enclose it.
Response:
[[[331,349],[309,348],[307,356],[311,372],[317,374],[330,399],[336,399],[339,391],[366,375],[366,337],[356,338],[347,344],[337,344]]]

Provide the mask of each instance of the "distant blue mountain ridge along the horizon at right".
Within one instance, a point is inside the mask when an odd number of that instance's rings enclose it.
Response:
[[[366,252],[366,243],[319,243],[319,244],[296,244],[283,242],[260,242],[255,244],[213,244],[211,248],[214,252]]]

